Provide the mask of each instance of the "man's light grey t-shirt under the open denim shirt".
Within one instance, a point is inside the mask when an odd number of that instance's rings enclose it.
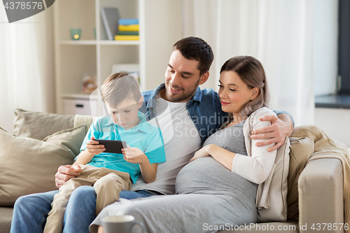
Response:
[[[175,193],[176,176],[202,147],[202,139],[188,115],[187,102],[169,102],[162,99],[159,94],[155,101],[155,111],[165,143],[167,162],[158,164],[157,178],[153,183],[145,183],[140,177],[132,185],[132,191],[146,189],[169,195]],[[148,122],[157,125],[155,118]]]

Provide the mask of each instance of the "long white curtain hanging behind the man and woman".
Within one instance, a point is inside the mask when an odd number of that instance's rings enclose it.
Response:
[[[183,36],[214,50],[210,78],[217,90],[222,64],[251,55],[267,74],[271,106],[295,125],[314,121],[315,94],[335,92],[337,0],[183,0]]]

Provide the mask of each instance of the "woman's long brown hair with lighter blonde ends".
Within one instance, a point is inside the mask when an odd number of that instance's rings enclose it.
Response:
[[[239,115],[242,118],[248,118],[251,113],[259,108],[268,107],[269,92],[267,90],[265,70],[258,59],[250,56],[232,57],[221,66],[220,73],[223,71],[235,71],[241,80],[248,85],[248,88],[258,87],[260,89],[255,99],[248,101],[241,107]]]

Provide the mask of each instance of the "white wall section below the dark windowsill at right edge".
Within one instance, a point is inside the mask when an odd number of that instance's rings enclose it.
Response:
[[[314,125],[350,147],[350,109],[316,108]]]

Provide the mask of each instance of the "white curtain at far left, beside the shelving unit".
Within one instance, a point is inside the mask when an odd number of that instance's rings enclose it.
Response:
[[[8,23],[0,7],[0,127],[12,132],[13,111],[55,111],[52,7]]]

